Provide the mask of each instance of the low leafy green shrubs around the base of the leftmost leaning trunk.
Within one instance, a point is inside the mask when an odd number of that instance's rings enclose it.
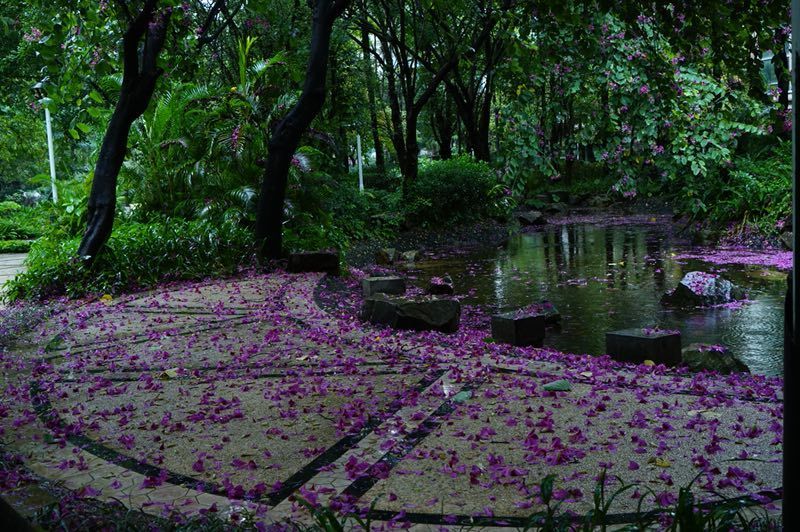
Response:
[[[79,238],[45,237],[28,256],[28,271],[7,297],[119,293],[180,279],[231,275],[253,262],[252,232],[233,223],[164,219],[122,224],[87,270],[75,260]]]

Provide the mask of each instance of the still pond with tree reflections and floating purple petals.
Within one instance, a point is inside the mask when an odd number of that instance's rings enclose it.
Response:
[[[753,373],[783,371],[783,296],[786,274],[763,266],[715,265],[681,259],[687,242],[668,221],[641,225],[548,225],[515,235],[499,248],[434,257],[414,271],[415,284],[449,273],[465,310],[491,314],[547,299],[561,312],[560,328],[545,346],[600,355],[605,333],[659,326],[681,331],[683,345],[722,344]],[[720,273],[745,288],[752,302],[741,308],[675,310],[661,296],[686,272]]]

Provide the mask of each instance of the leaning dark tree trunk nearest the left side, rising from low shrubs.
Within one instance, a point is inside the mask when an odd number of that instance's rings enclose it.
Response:
[[[158,0],[147,0],[142,11],[128,24],[123,37],[122,88],[95,164],[87,205],[88,224],[78,247],[78,257],[88,266],[111,236],[117,203],[117,177],[125,159],[131,125],[147,109],[156,81],[163,72],[156,62],[164,46],[170,13],[157,13],[157,5]],[[140,58],[139,43],[142,40],[144,45]]]

